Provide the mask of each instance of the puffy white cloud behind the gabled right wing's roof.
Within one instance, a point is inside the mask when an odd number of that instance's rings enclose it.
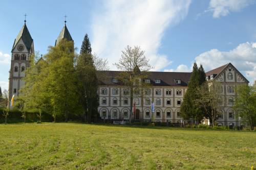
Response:
[[[229,52],[217,49],[204,52],[195,58],[206,71],[231,62],[252,83],[256,80],[256,43],[241,43]]]

